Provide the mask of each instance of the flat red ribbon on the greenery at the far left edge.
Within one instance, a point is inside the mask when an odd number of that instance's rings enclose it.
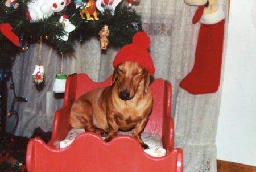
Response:
[[[15,35],[15,33],[11,30],[13,30],[13,27],[11,27],[9,23],[0,24],[0,31],[2,32],[2,34],[17,47],[19,47],[19,37]]]

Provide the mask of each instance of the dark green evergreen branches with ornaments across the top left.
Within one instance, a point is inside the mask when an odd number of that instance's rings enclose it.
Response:
[[[63,41],[56,37],[65,34],[63,26],[59,23],[60,16],[64,12],[55,13],[47,19],[31,23],[26,20],[27,3],[31,0],[18,0],[17,9],[6,7],[5,1],[0,0],[0,24],[9,23],[13,27],[12,31],[20,38],[20,47],[16,47],[0,32],[0,73],[3,68],[11,68],[15,55],[24,51],[22,48],[37,43],[40,36],[43,37],[44,43],[51,45],[57,51],[72,53],[75,41],[82,43],[92,37],[99,37],[98,32],[105,24],[110,31],[109,46],[114,47],[131,43],[134,33],[142,31],[141,16],[134,9],[128,9],[126,3],[121,2],[116,7],[114,15],[106,9],[104,14],[98,12],[99,20],[87,21],[81,18],[79,9],[74,8],[75,4],[71,2],[64,11],[76,29],[69,33],[67,41]]]

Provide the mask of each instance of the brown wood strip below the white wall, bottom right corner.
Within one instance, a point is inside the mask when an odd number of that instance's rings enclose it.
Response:
[[[244,165],[241,163],[217,160],[218,172],[256,172],[256,166]]]

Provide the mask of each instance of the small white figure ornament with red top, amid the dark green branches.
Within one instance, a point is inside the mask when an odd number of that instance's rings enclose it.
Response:
[[[65,31],[65,34],[60,39],[67,41],[69,33],[75,30],[76,26],[69,21],[68,16],[65,14],[60,17],[59,22],[63,25]]]

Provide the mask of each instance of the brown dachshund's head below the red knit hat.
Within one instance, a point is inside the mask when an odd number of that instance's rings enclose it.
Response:
[[[135,93],[147,93],[150,83],[150,74],[142,65],[125,61],[117,65],[112,79],[118,89],[118,95],[122,100],[130,100]]]

